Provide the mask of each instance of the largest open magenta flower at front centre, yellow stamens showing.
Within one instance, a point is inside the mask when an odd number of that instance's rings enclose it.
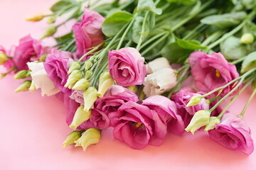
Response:
[[[118,110],[122,115],[114,127],[114,137],[133,149],[147,145],[159,146],[167,133],[166,125],[156,111],[134,101],[124,103]]]

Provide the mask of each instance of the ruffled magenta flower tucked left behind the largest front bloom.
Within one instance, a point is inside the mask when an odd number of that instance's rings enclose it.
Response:
[[[92,109],[92,115],[90,120],[80,125],[81,128],[99,128],[105,130],[110,126],[114,126],[119,116],[117,112],[119,107],[127,101],[138,101],[138,97],[132,91],[128,89],[113,85],[103,96],[103,98],[98,98],[95,101],[94,109]]]

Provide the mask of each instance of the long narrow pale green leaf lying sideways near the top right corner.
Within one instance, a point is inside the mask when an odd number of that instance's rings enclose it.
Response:
[[[222,15],[206,16],[201,19],[201,23],[215,26],[217,28],[228,28],[236,26],[245,19],[247,14],[244,11],[235,13],[224,13]]]

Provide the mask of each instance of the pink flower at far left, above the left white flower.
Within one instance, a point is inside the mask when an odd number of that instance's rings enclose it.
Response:
[[[48,52],[50,52],[50,47],[43,47],[40,40],[33,39],[31,35],[27,35],[21,38],[19,45],[14,50],[14,63],[18,70],[28,69],[27,62],[36,61]]]

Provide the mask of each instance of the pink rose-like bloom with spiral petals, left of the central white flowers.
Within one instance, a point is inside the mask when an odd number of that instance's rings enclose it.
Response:
[[[108,55],[110,74],[121,86],[142,85],[146,76],[144,57],[133,47],[112,50]]]

